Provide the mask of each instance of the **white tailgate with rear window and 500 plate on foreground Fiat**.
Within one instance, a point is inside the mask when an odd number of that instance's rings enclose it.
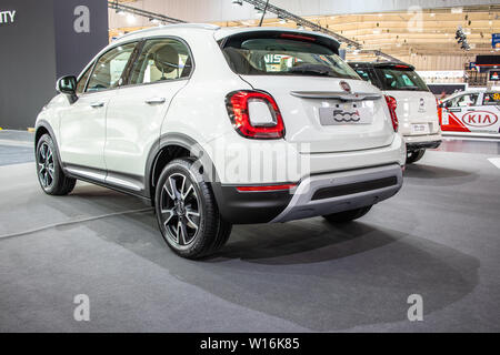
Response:
[[[338,57],[338,42],[310,32],[250,31],[221,42],[231,69],[270,93],[301,152],[390,145],[394,132],[382,93]]]

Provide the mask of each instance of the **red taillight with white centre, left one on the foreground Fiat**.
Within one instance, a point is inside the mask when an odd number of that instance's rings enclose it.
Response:
[[[274,99],[263,91],[240,90],[226,98],[229,118],[240,135],[272,140],[284,136],[284,124]]]

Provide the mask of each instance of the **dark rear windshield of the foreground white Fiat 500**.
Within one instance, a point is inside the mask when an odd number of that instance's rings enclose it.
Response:
[[[337,47],[302,33],[237,36],[221,43],[226,60],[241,75],[309,75],[357,79]]]

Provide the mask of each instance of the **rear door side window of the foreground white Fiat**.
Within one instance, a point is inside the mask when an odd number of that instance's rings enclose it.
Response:
[[[188,78],[192,60],[188,48],[174,39],[148,40],[133,64],[129,84]]]

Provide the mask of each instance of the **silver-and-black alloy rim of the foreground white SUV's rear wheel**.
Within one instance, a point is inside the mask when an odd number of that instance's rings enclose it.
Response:
[[[200,229],[200,199],[186,175],[169,175],[161,187],[160,219],[168,237],[179,246],[191,244]]]

